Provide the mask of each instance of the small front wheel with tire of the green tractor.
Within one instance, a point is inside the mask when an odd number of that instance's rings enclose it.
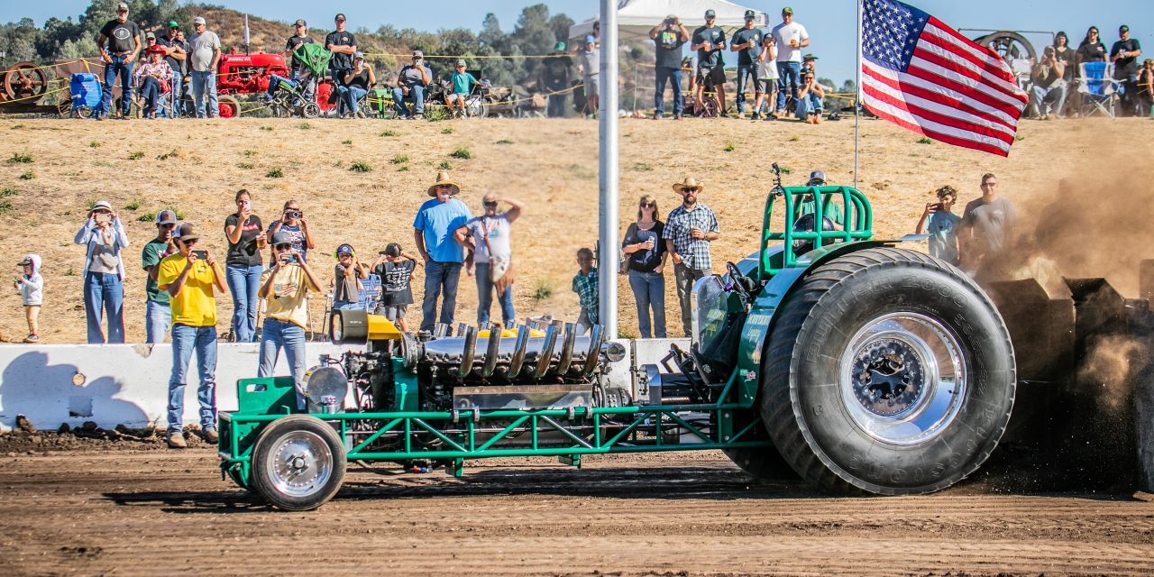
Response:
[[[270,504],[310,511],[332,499],[345,477],[345,448],[327,422],[307,414],[277,419],[253,450],[253,488]]]

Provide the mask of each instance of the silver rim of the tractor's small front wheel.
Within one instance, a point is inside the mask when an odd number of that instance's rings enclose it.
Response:
[[[316,433],[293,430],[277,440],[265,472],[278,492],[294,497],[309,496],[332,477],[332,451]]]

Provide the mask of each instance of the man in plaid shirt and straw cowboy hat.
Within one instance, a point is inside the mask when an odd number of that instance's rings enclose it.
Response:
[[[697,202],[697,196],[705,186],[694,177],[685,177],[673,185],[673,190],[681,195],[680,207],[669,212],[661,238],[665,239],[669,256],[673,258],[673,276],[677,287],[677,302],[681,305],[681,325],[685,336],[691,336],[691,310],[689,295],[694,283],[710,273],[713,261],[710,256],[710,242],[721,235],[718,218],[713,210]]]

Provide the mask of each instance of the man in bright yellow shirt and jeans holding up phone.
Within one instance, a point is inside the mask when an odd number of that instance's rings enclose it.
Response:
[[[183,435],[185,376],[196,351],[201,377],[196,399],[201,404],[201,430],[209,443],[216,430],[216,298],[213,286],[227,292],[224,275],[208,250],[196,250],[200,235],[192,223],[172,231],[178,253],[158,264],[156,284],[168,292],[172,307],[172,376],[168,379],[168,447],[188,447]]]

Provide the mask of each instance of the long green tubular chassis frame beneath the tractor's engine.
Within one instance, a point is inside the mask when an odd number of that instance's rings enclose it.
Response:
[[[697,405],[667,405],[667,406],[624,406],[624,407],[575,407],[572,412],[568,409],[537,409],[537,410],[497,410],[473,412],[418,412],[418,411],[395,411],[379,413],[336,413],[315,414],[317,419],[330,422],[342,439],[345,439],[345,456],[349,460],[383,460],[402,462],[407,459],[454,459],[454,473],[460,474],[463,459],[477,459],[487,457],[540,457],[560,456],[572,457],[571,463],[580,464],[582,455],[606,455],[614,452],[654,452],[654,451],[684,451],[684,450],[713,450],[735,449],[741,447],[770,447],[766,440],[755,439],[751,433],[757,421],[739,424],[735,413],[742,409],[740,403],[727,399],[736,395],[735,383],[737,374],[730,375],[726,382],[718,403]],[[283,377],[278,377],[283,379]],[[245,395],[246,385],[254,383],[283,387],[282,382],[273,382],[272,379],[242,380],[238,383],[240,395]],[[291,388],[291,379],[288,387]],[[220,433],[220,470],[222,474],[227,473],[239,485],[248,487],[250,484],[250,463],[253,459],[253,448],[256,437],[263,426],[287,414],[292,410],[285,405],[269,406],[269,411],[237,411],[232,413],[220,413],[218,418],[218,430]],[[717,424],[709,432],[685,421],[677,413],[699,412],[713,415]],[[475,415],[475,418],[474,418]],[[629,417],[629,422],[623,428],[605,430],[604,418],[608,415]],[[496,434],[485,433],[485,437],[478,435],[481,424],[493,420],[508,421],[502,430]],[[652,420],[655,419],[655,422]],[[352,426],[351,421],[375,421],[376,429],[372,432],[359,430],[355,443],[350,441]],[[692,435],[694,443],[675,443],[662,440],[658,434],[652,439],[636,439],[631,435],[639,426],[651,421],[647,427],[657,425],[660,430],[662,425],[676,425]],[[529,426],[529,432],[518,434],[518,440],[529,436],[526,447],[497,448],[502,440],[512,439],[514,429]],[[464,429],[462,433],[444,433],[447,428]],[[542,447],[539,439],[539,430],[557,432],[568,437],[571,443],[562,447],[556,445],[555,440],[550,440],[549,447]],[[374,441],[390,432],[403,432],[403,448],[389,452],[374,452],[366,450]],[[361,437],[368,433],[368,436]],[[414,447],[413,434],[429,434],[439,439],[443,445],[441,449],[429,450]],[[492,435],[492,436],[489,436]]]

